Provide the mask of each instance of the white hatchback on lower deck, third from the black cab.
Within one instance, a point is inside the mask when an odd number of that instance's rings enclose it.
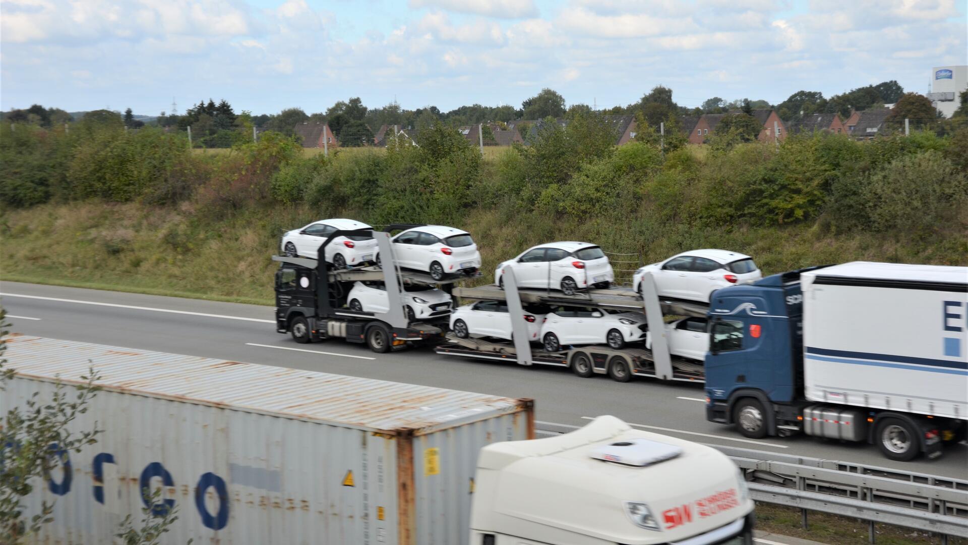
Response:
[[[558,352],[567,344],[605,343],[619,349],[644,339],[647,329],[641,312],[611,314],[598,308],[558,306],[545,316],[541,341],[548,352]]]

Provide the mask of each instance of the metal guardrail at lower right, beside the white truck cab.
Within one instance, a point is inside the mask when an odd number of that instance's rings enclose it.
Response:
[[[889,467],[709,445],[739,465],[757,501],[820,511],[874,524],[968,537],[968,480]]]

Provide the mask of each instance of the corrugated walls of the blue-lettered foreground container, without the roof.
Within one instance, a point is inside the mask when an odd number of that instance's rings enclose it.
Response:
[[[13,368],[15,344],[8,353]],[[63,373],[65,381],[70,376]],[[54,387],[47,377],[24,375],[9,386],[0,399],[4,410],[34,392],[48,397]],[[140,515],[147,482],[164,485],[165,500],[179,510],[173,542],[466,544],[478,452],[532,435],[530,408],[515,401],[474,411],[471,422],[457,411],[453,425],[380,433],[108,388],[74,427],[97,421],[105,430],[98,443],[71,453],[70,477],[55,471],[31,497],[34,510],[41,499],[57,500],[54,523],[38,541],[108,541],[125,515]]]

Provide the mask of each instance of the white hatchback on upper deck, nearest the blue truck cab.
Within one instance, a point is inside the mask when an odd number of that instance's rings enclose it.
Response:
[[[753,258],[727,250],[692,250],[661,263],[647,265],[632,277],[635,291],[642,293],[642,278],[652,273],[660,297],[709,303],[712,292],[763,278]]]

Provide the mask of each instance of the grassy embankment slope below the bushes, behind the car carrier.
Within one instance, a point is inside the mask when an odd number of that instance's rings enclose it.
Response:
[[[100,202],[42,205],[5,215],[0,223],[2,279],[263,305],[272,304],[277,266],[270,255],[278,250],[281,231],[318,219],[306,206],[208,217],[189,204],[165,208]],[[500,261],[548,240],[595,241],[606,251],[640,254],[641,263],[689,248],[729,248],[754,256],[766,273],[852,260],[968,263],[968,240],[956,232],[911,243],[891,235],[834,236],[803,224],[657,229],[646,217],[615,225],[491,208],[470,209],[459,227],[481,248],[480,282],[492,280]]]

